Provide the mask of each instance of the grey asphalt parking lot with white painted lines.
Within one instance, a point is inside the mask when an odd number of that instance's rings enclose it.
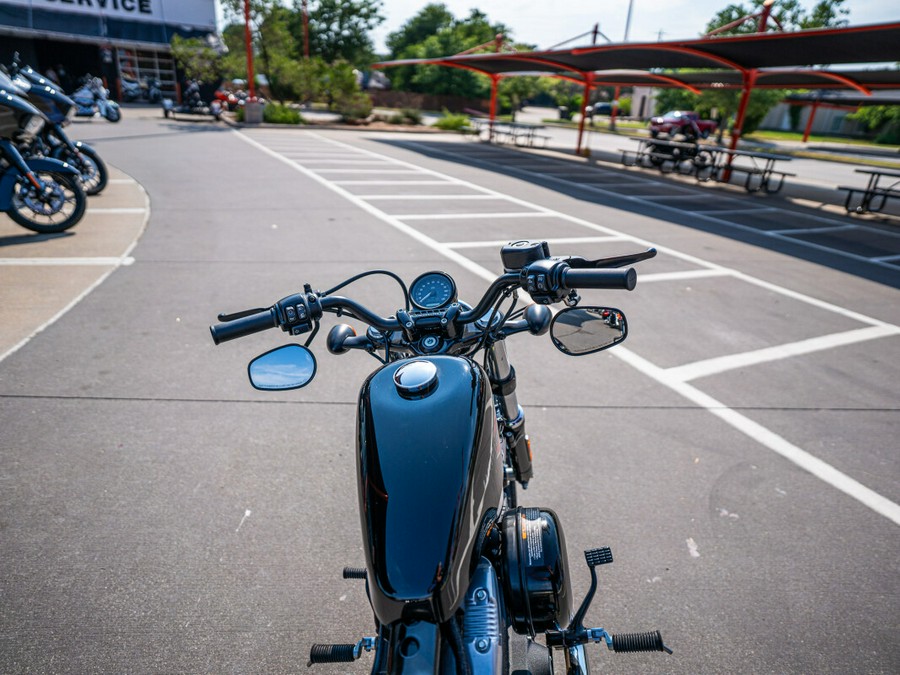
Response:
[[[897,671],[889,225],[446,135],[150,112],[78,131],[116,190],[66,237],[0,225],[0,671],[289,673],[312,642],[370,634],[340,570],[362,559],[353,416],[374,361],[318,340],[316,381],[265,395],[246,362],[283,339],[214,347],[206,326],[373,267],[442,269],[474,299],[521,238],[660,252],[634,292],[584,294],[626,313],[624,345],[510,345],[523,503],[560,515],[573,565],[612,547],[593,625],[675,650],[595,668]],[[350,288],[395,309],[389,284]]]

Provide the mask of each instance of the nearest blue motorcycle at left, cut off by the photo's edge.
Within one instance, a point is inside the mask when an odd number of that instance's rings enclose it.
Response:
[[[55,234],[81,220],[87,198],[75,167],[19,152],[46,124],[24,94],[0,69],[0,211],[33,232]]]

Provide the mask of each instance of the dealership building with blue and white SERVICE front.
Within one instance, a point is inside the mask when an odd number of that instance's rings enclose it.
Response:
[[[216,42],[215,0],[0,0],[0,63],[52,72],[68,91],[90,73],[120,98],[122,80],[176,91],[172,36]]]

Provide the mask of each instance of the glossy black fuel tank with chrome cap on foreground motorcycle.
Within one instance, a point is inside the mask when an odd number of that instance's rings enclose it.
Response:
[[[475,541],[502,498],[487,375],[451,356],[391,363],[363,384],[357,423],[375,615],[386,624],[445,621],[463,599]]]

